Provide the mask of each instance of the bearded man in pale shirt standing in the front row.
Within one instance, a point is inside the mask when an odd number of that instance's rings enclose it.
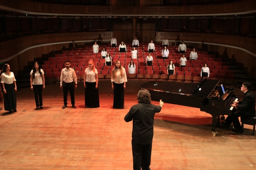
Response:
[[[70,98],[72,108],[76,108],[75,105],[75,89],[77,88],[76,72],[71,67],[70,61],[66,61],[66,68],[61,70],[61,89],[63,90],[64,106],[62,109],[67,108],[67,93],[70,91]]]

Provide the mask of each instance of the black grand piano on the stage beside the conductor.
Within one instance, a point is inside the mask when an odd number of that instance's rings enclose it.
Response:
[[[212,115],[212,134],[216,136],[216,125],[220,123],[220,116],[232,113],[233,101],[239,99],[234,94],[234,88],[224,88],[218,80],[204,79],[198,83],[149,81],[140,88],[147,89],[151,100],[171,103],[175,105],[200,108]]]

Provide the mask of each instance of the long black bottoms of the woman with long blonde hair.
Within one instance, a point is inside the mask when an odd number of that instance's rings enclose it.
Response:
[[[124,102],[125,102],[124,82],[121,84],[117,84],[117,83],[113,82],[113,85],[114,85],[113,108],[123,109]]]

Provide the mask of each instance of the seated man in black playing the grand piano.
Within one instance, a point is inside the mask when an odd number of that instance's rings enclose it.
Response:
[[[242,132],[241,125],[239,122],[239,117],[241,119],[246,120],[250,119],[251,117],[255,117],[255,95],[251,91],[251,84],[250,82],[243,82],[241,86],[241,91],[244,93],[244,98],[242,101],[233,102],[231,105],[233,108],[233,113],[231,116],[227,116],[226,122],[222,122],[222,124],[226,125],[227,127],[233,122],[234,128],[231,130],[232,132]]]

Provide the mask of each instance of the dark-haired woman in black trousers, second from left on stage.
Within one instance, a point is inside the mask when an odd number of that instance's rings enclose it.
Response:
[[[41,69],[38,62],[34,63],[33,69],[30,72],[30,88],[34,91],[35,94],[35,110],[38,110],[39,108],[43,109],[42,92],[45,88],[44,71]]]

